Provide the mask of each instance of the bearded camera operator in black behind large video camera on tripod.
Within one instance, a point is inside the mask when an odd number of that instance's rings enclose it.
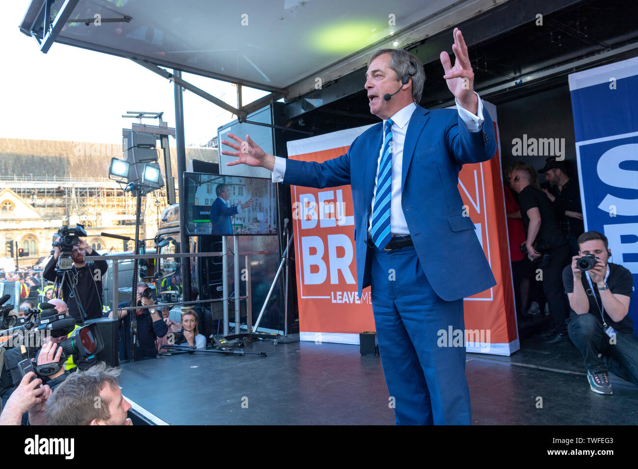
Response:
[[[59,241],[59,239],[58,237],[56,241]],[[102,278],[107,272],[108,264],[105,260],[84,262],[85,255],[94,256],[98,254],[93,251],[93,248],[84,239],[78,239],[77,246],[73,246],[71,251],[73,266],[68,272],[75,284],[75,291],[80,297],[86,317],[82,317],[75,297],[71,297],[71,286],[68,285],[68,281],[64,281],[62,285],[62,299],[68,304],[69,315],[78,324],[82,324],[85,319],[95,319],[102,316]],[[56,280],[56,263],[60,257],[60,252],[59,246],[54,246],[53,257],[48,261],[42,274],[45,279]]]

